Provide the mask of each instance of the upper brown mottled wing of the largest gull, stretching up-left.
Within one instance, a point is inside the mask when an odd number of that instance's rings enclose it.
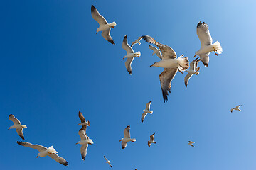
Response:
[[[157,47],[159,47],[159,49],[162,52],[162,58],[163,59],[176,59],[176,57],[177,57],[176,52],[171,47],[169,47],[168,45],[163,45],[159,42],[156,42],[156,40],[154,40],[154,38],[152,38],[149,35],[143,35],[142,38],[146,42],[149,42],[149,43],[154,44]]]

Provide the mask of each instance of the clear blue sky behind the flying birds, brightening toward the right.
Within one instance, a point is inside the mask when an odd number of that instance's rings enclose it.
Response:
[[[98,24],[90,6],[117,26],[116,45],[95,35]],[[255,169],[255,1],[2,1],[0,165],[1,169]],[[142,56],[124,67],[122,39],[151,35],[184,54],[190,61],[201,47],[196,24],[205,21],[213,42],[223,54],[210,54],[185,87],[186,74],[177,73],[169,101],[163,102],[159,74],[149,67],[146,42],[134,45]],[[153,101],[153,115],[142,124],[145,104]],[[242,111],[230,108],[243,104]],[[94,141],[83,162],[78,111],[91,126]],[[37,158],[34,149],[16,144],[15,130],[7,130],[14,114],[28,126],[27,142],[50,147],[68,160],[67,168]],[[122,150],[119,140],[131,125],[136,138]],[[156,145],[146,144],[156,132]],[[196,147],[187,145],[188,140]],[[15,161],[15,164],[14,164]]]

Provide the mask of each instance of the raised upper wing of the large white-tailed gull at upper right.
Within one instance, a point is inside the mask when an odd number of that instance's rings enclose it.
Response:
[[[196,33],[201,42],[201,47],[208,46],[213,43],[213,38],[210,36],[209,26],[205,22],[199,22],[196,26]]]

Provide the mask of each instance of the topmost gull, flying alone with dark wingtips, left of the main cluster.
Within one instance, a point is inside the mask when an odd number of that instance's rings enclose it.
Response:
[[[110,29],[114,28],[114,26],[116,26],[117,24],[115,22],[107,23],[107,20],[102,15],[100,15],[99,11],[97,11],[95,6],[93,5],[91,7],[91,13],[92,18],[94,18],[100,24],[100,27],[97,28],[96,34],[102,31],[102,37],[105,38],[105,40],[107,40],[108,42],[114,44],[114,40],[110,36]]]

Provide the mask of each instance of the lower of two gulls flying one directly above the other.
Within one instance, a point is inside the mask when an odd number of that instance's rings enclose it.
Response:
[[[89,145],[93,144],[92,140],[90,140],[85,133],[85,127],[86,126],[82,126],[82,128],[78,131],[78,135],[80,136],[81,140],[76,143],[76,144],[82,145],[80,149],[82,160],[85,160],[85,157],[87,155],[88,144]]]

